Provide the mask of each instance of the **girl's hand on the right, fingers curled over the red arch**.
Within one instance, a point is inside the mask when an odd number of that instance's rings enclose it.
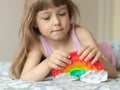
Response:
[[[96,47],[93,47],[91,45],[89,46],[83,46],[80,51],[78,51],[78,55],[80,55],[80,60],[85,60],[89,61],[90,59],[93,60],[91,61],[92,64],[94,64],[97,60],[101,58],[101,51],[97,49]]]

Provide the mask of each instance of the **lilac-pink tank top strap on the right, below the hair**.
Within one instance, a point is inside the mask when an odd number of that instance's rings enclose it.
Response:
[[[74,50],[78,51],[81,48],[81,44],[80,44],[78,37],[76,35],[75,28],[76,28],[76,25],[72,25],[71,37],[72,37],[72,41],[74,44]]]

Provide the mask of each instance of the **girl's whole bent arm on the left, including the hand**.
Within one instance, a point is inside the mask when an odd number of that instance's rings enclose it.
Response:
[[[54,50],[49,57],[40,63],[41,57],[42,53],[38,44],[33,45],[21,74],[22,80],[41,81],[49,74],[51,68],[60,70],[71,63],[68,60],[69,54],[60,50]]]

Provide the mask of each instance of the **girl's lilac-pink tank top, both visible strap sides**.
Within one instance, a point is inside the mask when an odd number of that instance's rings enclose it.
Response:
[[[79,43],[79,40],[76,36],[74,25],[72,25],[72,31],[71,31],[70,35],[71,35],[72,42],[73,42],[73,45],[74,45],[74,50],[75,51],[80,50],[81,44]],[[47,41],[47,39],[43,35],[40,35],[40,40],[41,40],[41,43],[42,43],[43,48],[45,50],[45,56],[46,57],[50,56],[53,52],[52,46],[49,44],[49,42]]]

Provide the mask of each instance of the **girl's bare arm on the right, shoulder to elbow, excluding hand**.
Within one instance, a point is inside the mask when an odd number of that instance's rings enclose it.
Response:
[[[91,45],[91,46],[95,47],[99,52],[101,52],[96,44],[95,39],[86,29],[79,27],[76,29],[76,34],[83,46]],[[115,67],[110,64],[110,62],[103,55],[102,52],[99,56],[100,56],[100,62],[103,64],[104,68],[108,71],[108,77],[116,78],[117,71],[116,71]]]

